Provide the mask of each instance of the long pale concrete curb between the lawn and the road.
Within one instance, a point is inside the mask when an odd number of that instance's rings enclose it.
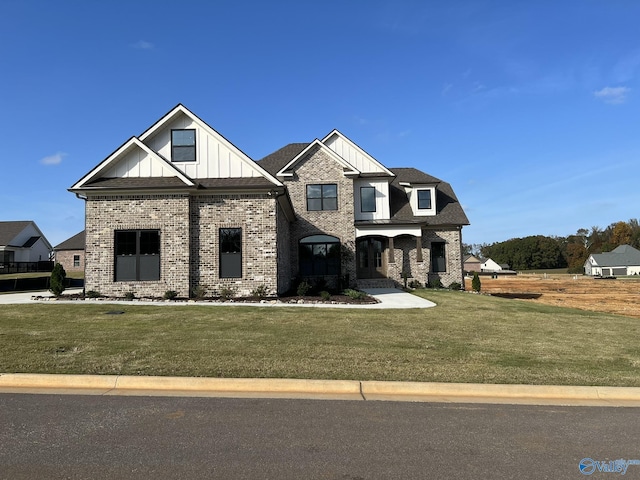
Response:
[[[640,406],[638,387],[0,374],[0,392]]]

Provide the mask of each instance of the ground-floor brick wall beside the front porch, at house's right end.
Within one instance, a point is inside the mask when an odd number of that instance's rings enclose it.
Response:
[[[395,263],[387,266],[387,276],[393,279],[398,286],[404,285],[402,273],[407,272],[407,281],[418,280],[425,285],[427,282],[439,278],[442,285],[448,287],[457,282],[464,285],[462,278],[462,243],[461,231],[457,228],[449,230],[422,231],[422,262],[417,261],[416,239],[411,236],[394,238]],[[445,255],[447,259],[447,271],[431,272],[431,243],[445,242]],[[388,254],[388,252],[385,252]]]

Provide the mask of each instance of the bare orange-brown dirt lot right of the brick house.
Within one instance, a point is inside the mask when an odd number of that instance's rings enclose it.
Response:
[[[640,279],[596,280],[582,275],[481,277],[482,293],[561,307],[640,318]],[[465,279],[471,290],[471,279]]]

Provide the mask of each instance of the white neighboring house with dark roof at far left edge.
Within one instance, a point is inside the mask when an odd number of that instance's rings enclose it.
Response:
[[[21,270],[35,271],[35,266],[27,264],[48,262],[51,250],[51,244],[35,222],[0,222],[0,273],[9,270],[13,273],[18,265]]]

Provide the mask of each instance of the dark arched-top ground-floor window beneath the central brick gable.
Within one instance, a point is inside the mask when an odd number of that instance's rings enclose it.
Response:
[[[340,240],[312,235],[300,240],[300,275],[340,275]]]

